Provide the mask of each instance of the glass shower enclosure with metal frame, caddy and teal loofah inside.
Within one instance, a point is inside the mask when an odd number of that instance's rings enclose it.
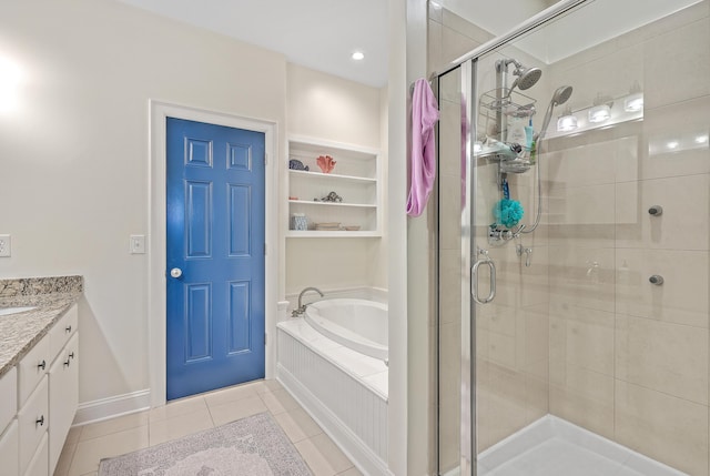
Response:
[[[437,74],[439,474],[709,474],[709,77],[710,0]]]

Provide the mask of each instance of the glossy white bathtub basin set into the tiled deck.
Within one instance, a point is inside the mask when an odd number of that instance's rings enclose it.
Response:
[[[387,362],[387,306],[365,300],[324,300],[306,307],[305,321],[326,337]]]

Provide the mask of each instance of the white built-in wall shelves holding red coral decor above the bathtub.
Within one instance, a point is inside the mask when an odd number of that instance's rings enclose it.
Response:
[[[336,162],[331,173],[323,173],[317,165],[321,155],[329,155]],[[379,151],[292,136],[288,141],[288,160],[286,237],[382,236]],[[293,169],[293,161],[308,166],[308,171]],[[323,201],[331,192],[342,200]],[[294,230],[294,214],[305,215],[307,230]],[[336,224],[339,224],[339,229],[335,229]]]

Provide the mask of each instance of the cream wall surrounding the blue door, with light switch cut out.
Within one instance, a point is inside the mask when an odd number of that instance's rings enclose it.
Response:
[[[128,249],[148,232],[148,101],[283,134],[285,59],[106,1],[3,2],[0,32],[24,73],[0,115],[0,233],[13,240],[0,276],[82,274],[80,401],[144,389],[148,255]]]

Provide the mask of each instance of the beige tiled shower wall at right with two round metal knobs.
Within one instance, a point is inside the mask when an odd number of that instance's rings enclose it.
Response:
[[[691,475],[709,474],[709,13],[548,67],[572,110],[633,80],[646,100],[641,122],[549,141],[550,413]]]

